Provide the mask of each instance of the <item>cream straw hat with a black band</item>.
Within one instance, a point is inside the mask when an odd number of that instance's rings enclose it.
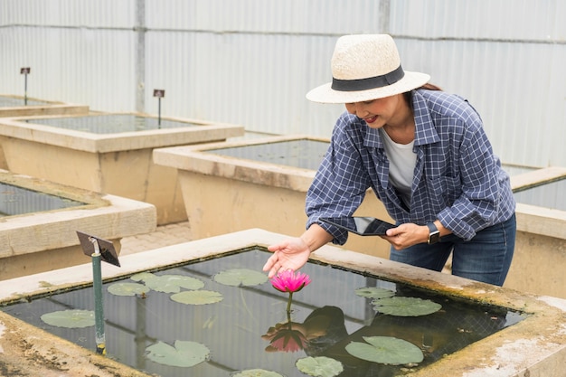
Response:
[[[322,103],[354,103],[404,93],[429,81],[420,72],[403,71],[395,42],[388,34],[340,37],[332,55],[332,82],[307,93]]]

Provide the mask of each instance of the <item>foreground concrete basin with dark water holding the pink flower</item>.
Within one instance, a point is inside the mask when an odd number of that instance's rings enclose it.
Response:
[[[132,368],[164,377],[230,376],[262,369],[279,373],[269,375],[295,377],[304,375],[297,371],[297,361],[308,356],[339,361],[344,371],[339,376],[563,375],[566,301],[560,298],[522,294],[329,245],[313,253],[311,263],[302,269],[312,282],[294,294],[290,315],[288,294],[278,292],[268,281],[242,286],[220,283],[222,272],[260,271],[269,257],[264,248],[283,237],[263,230],[241,231],[127,255],[120,259],[121,268],[104,264],[108,359],[90,353],[94,350],[92,326],[62,328],[38,319],[55,311],[92,310],[89,264],[0,282],[0,305],[4,306],[0,324],[5,326],[0,332],[0,346],[5,350],[0,360],[9,356],[18,361],[21,371],[35,368],[35,372],[42,365],[53,369],[53,363],[45,361],[55,360],[55,366],[70,375],[77,365],[88,363],[99,368],[91,373],[102,372],[101,376],[110,375],[104,374],[109,365],[114,375],[137,375]],[[181,290],[216,292],[222,299],[185,305],[175,301],[172,293],[156,289],[131,297],[108,293],[113,285],[139,282],[142,272],[146,278],[150,273],[202,281],[200,287]],[[386,315],[373,307],[372,299],[355,294],[357,288],[367,287],[433,301],[442,308],[423,316]],[[282,344],[271,342],[274,332],[284,334],[285,326],[278,324],[288,325],[289,316],[307,342],[294,349],[289,344],[278,348]],[[33,350],[33,360],[13,342],[13,334]],[[346,345],[363,342],[364,336],[409,342],[424,359],[394,366],[363,361],[345,351]],[[148,346],[175,341],[202,344],[210,354],[192,367],[167,366],[148,356]],[[83,349],[79,357],[77,349]],[[126,364],[123,371],[117,361]]]

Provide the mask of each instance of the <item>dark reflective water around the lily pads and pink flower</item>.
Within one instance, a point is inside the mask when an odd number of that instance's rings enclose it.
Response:
[[[262,335],[278,323],[287,322],[288,294],[274,289],[269,282],[254,287],[230,287],[216,283],[212,277],[225,269],[260,271],[268,257],[264,250],[242,250],[222,258],[155,272],[202,279],[203,289],[222,293],[223,300],[216,304],[187,306],[171,300],[171,294],[156,291],[150,291],[145,298],[117,297],[105,289],[108,357],[161,376],[229,376],[233,372],[261,368],[287,377],[299,377],[305,374],[295,367],[297,359],[324,355],[344,364],[341,376],[383,377],[407,369],[355,359],[344,351],[345,344],[373,335],[404,339],[420,347],[425,354],[422,363],[410,368],[415,370],[514,325],[524,317],[505,308],[481,306],[344,269],[307,263],[301,270],[312,278],[312,283],[294,294],[291,320],[302,327],[309,341],[297,352],[266,352],[269,341]],[[433,300],[442,305],[442,309],[428,316],[382,315],[373,310],[371,299],[354,294],[359,287],[385,287],[394,290],[397,296]],[[37,298],[2,307],[2,310],[94,350],[93,327],[66,329],[46,325],[40,319],[44,313],[74,308],[93,310],[91,288]],[[174,344],[175,340],[206,345],[211,350],[210,360],[192,368],[180,368],[146,359],[147,346],[157,341]]]

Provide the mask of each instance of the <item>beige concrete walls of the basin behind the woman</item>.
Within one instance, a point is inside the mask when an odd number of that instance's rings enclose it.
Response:
[[[154,151],[157,165],[179,171],[184,203],[193,239],[261,227],[288,235],[304,231],[307,189],[313,169],[266,163],[255,157],[215,154],[215,150],[325,138],[267,137],[252,141],[178,146]],[[320,156],[322,158],[322,156]],[[514,190],[552,182],[566,176],[564,168],[534,170],[512,177]],[[505,287],[566,298],[566,212],[524,203],[517,205],[517,239],[514,261]],[[372,191],[355,213],[391,221]],[[389,257],[389,244],[379,237],[351,235],[348,250]]]

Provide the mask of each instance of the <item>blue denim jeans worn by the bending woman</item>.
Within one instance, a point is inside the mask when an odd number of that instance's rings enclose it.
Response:
[[[503,286],[513,259],[516,226],[513,215],[507,221],[478,231],[472,240],[450,234],[434,245],[420,243],[404,250],[391,248],[390,259],[440,271],[452,252],[452,275]]]

